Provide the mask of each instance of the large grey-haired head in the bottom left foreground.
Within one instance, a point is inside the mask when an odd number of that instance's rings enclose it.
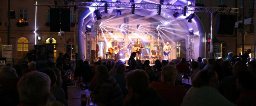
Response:
[[[32,71],[25,74],[17,84],[20,103],[44,106],[50,96],[51,80],[45,73]]]

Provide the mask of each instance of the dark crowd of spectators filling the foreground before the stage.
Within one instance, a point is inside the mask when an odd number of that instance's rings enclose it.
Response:
[[[248,51],[248,50],[247,50]],[[256,106],[256,60],[245,56],[180,61],[79,60],[74,77],[90,85],[99,106]],[[62,58],[63,54],[60,54]],[[8,106],[67,106],[67,59],[37,70],[34,61],[0,70],[0,103]],[[244,60],[245,59],[245,60]],[[64,61],[64,63],[63,63]],[[184,87],[183,78],[192,86]]]

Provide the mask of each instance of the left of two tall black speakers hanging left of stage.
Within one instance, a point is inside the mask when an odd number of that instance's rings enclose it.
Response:
[[[50,8],[50,31],[59,32],[60,31],[60,9]]]

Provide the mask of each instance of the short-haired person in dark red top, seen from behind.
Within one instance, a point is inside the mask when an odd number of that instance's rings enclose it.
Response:
[[[161,82],[152,82],[149,87],[157,90],[157,94],[163,98],[168,106],[180,106],[186,90],[183,86],[175,86],[175,75],[177,70],[172,65],[163,67]]]

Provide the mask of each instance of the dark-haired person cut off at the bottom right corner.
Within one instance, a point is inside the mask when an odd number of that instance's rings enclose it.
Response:
[[[248,71],[237,74],[236,86],[241,94],[236,100],[238,106],[256,106],[256,78]]]

